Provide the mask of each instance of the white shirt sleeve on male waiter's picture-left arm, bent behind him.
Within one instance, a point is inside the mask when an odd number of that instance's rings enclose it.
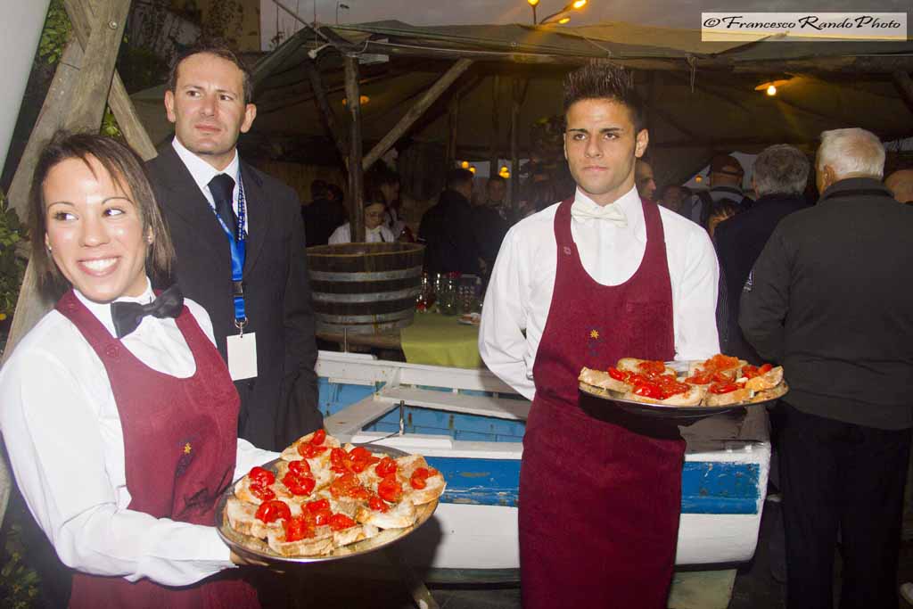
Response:
[[[510,229],[488,281],[478,352],[491,372],[531,400],[536,386],[524,359],[528,345],[523,334],[530,299],[528,271],[519,251],[517,231]]]

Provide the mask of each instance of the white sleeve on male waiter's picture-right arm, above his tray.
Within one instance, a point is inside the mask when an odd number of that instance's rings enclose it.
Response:
[[[673,293],[677,360],[706,360],[719,353],[718,290],[719,263],[713,243],[703,230],[691,231],[682,276]]]

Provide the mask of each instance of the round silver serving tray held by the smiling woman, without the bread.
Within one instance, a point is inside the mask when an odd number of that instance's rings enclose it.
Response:
[[[408,454],[397,448],[391,448],[390,446],[381,446],[377,444],[356,446],[364,446],[374,453],[383,453],[384,455],[394,458],[405,457]],[[274,459],[261,467],[265,467],[273,473],[277,473],[276,464],[281,460],[282,459]],[[236,482],[237,480],[225,489],[222,496],[219,497],[218,503],[215,505],[215,530],[218,532],[219,537],[222,538],[222,541],[225,541],[226,545],[238,556],[260,562],[330,562],[352,558],[353,556],[362,556],[362,554],[380,550],[381,548],[391,545],[396,541],[400,541],[404,539],[404,537],[412,534],[416,529],[425,524],[426,520],[431,518],[431,515],[435,513],[438,503],[438,500],[436,499],[431,503],[415,506],[415,509],[418,511],[418,518],[415,519],[415,523],[411,527],[406,527],[405,529],[384,529],[381,530],[376,537],[373,537],[370,540],[356,541],[355,543],[350,543],[341,548],[334,548],[329,554],[323,554],[321,556],[282,556],[281,554],[272,551],[266,540],[244,535],[228,526],[228,523],[224,518],[226,502],[228,501],[228,498],[234,497]]]

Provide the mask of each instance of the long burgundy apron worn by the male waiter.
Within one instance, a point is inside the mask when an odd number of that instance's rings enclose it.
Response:
[[[675,357],[672,285],[656,204],[642,202],[644,258],[618,286],[582,267],[569,199],[555,215],[558,267],[523,438],[523,606],[660,609],[672,581],[685,442],[677,427],[580,394],[582,366]]]

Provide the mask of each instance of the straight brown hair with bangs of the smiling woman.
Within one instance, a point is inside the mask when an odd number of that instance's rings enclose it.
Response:
[[[174,246],[165,228],[159,205],[155,202],[155,194],[152,192],[152,185],[149,184],[142,159],[129,146],[109,137],[93,133],[68,134],[58,131],[38,155],[32,189],[28,196],[32,263],[35,265],[41,286],[56,289],[63,282],[57,265],[54,264],[53,258],[48,256],[45,247],[47,202],[44,184],[47,175],[59,163],[69,159],[79,159],[94,173],[89,164],[90,158],[101,164],[124,193],[132,195],[133,205],[136,205],[140,214],[142,235],[152,233],[155,236],[146,257],[147,272],[153,277],[168,277],[174,259]]]

